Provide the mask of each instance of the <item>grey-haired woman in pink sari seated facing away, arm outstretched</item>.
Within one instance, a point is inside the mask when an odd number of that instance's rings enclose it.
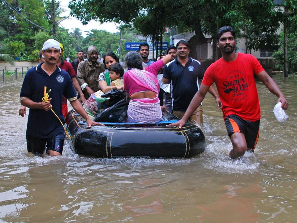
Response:
[[[166,55],[161,60],[148,67],[142,67],[142,59],[136,51],[130,51],[125,56],[129,70],[124,74],[124,88],[127,99],[130,99],[127,111],[128,121],[138,123],[154,123],[161,120],[162,112],[158,98],[160,84],[158,71],[168,62],[171,56]]]

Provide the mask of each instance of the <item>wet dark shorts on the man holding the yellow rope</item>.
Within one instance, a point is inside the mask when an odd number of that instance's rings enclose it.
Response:
[[[49,150],[57,151],[62,154],[65,134],[59,133],[49,138],[37,138],[34,136],[26,135],[26,139],[28,152],[32,152],[37,155],[42,155],[46,145],[47,154],[49,154]]]

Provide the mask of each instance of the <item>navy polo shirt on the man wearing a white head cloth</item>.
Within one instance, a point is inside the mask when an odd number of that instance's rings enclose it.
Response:
[[[42,102],[44,86],[46,86],[47,92],[51,89],[49,98],[52,98],[50,101],[53,106],[52,109],[64,123],[65,121],[62,115],[62,97],[63,95],[66,98],[76,97],[71,77],[58,66],[49,76],[42,70],[41,64],[28,70],[24,77],[19,96],[29,98],[34,102]],[[63,132],[63,126],[51,110],[46,112],[43,109],[30,108],[26,135],[37,138],[48,138]]]

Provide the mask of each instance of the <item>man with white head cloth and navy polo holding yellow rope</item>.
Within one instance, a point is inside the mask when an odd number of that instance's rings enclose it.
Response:
[[[54,39],[45,41],[42,48],[44,63],[31,68],[24,77],[20,92],[21,104],[29,107],[26,131],[27,150],[43,154],[45,145],[49,155],[62,155],[64,145],[64,128],[50,111],[52,108],[64,123],[62,115],[62,96],[70,101],[72,107],[83,116],[88,127],[102,125],[91,120],[76,98],[75,90],[69,74],[57,66],[61,53],[59,43]],[[44,87],[49,92],[49,101],[43,102]]]

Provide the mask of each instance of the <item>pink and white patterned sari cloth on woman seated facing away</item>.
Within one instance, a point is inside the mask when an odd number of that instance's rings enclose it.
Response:
[[[160,84],[152,73],[133,68],[127,74],[140,86],[156,92],[156,98],[133,99],[129,102],[127,111],[129,122],[153,123],[161,120],[162,111],[158,93]]]

